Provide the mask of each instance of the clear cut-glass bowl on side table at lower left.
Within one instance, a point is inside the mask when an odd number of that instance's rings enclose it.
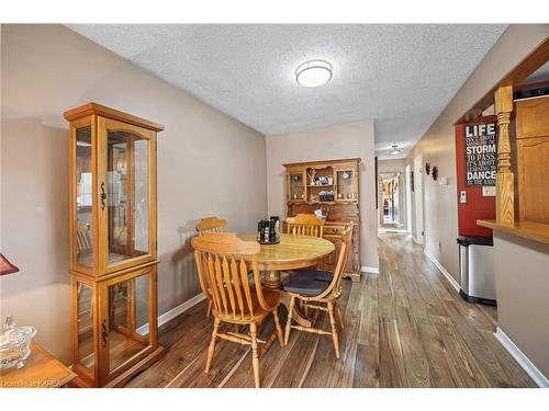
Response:
[[[31,355],[31,341],[36,335],[32,326],[8,328],[0,334],[0,369],[22,368]]]

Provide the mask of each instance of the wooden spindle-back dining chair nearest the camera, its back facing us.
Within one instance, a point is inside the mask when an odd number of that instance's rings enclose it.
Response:
[[[210,372],[215,344],[219,339],[251,346],[251,365],[256,388],[260,386],[259,356],[278,336],[284,345],[282,328],[278,318],[280,293],[262,289],[257,265],[260,246],[256,241],[244,241],[232,232],[209,233],[191,240],[194,249],[197,272],[202,292],[212,301],[214,324],[212,340],[208,349],[205,372]],[[256,286],[250,285],[248,272],[251,270]],[[274,332],[267,339],[257,336],[258,323],[272,313]],[[220,332],[221,322],[249,326],[249,334],[235,331]],[[264,350],[258,352],[257,344]]]

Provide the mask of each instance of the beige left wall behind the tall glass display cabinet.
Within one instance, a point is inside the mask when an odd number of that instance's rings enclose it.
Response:
[[[265,136],[61,25],[2,25],[1,315],[70,362],[68,123],[90,101],[164,124],[158,137],[159,313],[200,292],[189,238],[203,216],[255,231]]]

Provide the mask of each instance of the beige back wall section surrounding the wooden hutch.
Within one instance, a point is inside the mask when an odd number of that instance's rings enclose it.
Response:
[[[267,137],[269,215],[285,216],[284,168],[301,161],[362,159],[360,169],[360,259],[378,267],[373,122],[356,122]]]

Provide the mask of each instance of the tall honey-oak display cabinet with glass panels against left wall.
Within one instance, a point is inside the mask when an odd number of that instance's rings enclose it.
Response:
[[[115,387],[164,355],[157,342],[156,135],[96,103],[70,122],[72,370]]]

